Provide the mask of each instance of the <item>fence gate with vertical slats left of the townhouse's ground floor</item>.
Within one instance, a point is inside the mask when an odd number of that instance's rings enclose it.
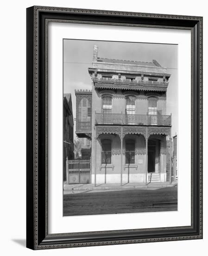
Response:
[[[66,160],[67,183],[90,183],[91,168],[90,160]]]

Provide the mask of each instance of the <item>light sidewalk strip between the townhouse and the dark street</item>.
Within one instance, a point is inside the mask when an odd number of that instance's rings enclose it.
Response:
[[[126,183],[120,186],[120,183],[106,183],[106,184],[63,184],[64,194],[70,194],[70,192],[75,191],[92,191],[96,190],[96,192],[103,192],[109,190],[130,190],[130,189],[161,189],[168,187],[175,187],[177,182],[150,182],[148,184],[145,183]]]

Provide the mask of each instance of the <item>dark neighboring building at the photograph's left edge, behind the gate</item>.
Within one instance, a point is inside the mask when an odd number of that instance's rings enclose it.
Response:
[[[63,180],[66,180],[66,157],[74,159],[74,118],[71,94],[63,94]]]

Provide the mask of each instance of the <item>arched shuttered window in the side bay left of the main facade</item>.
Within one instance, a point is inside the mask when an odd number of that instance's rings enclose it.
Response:
[[[78,106],[78,121],[89,122],[91,119],[91,106],[87,98],[82,98]]]

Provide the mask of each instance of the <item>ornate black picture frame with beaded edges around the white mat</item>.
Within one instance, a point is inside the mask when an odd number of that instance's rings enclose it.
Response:
[[[191,225],[49,234],[48,23],[186,29],[191,32]],[[61,7],[27,8],[26,247],[55,249],[202,239],[202,17]]]

